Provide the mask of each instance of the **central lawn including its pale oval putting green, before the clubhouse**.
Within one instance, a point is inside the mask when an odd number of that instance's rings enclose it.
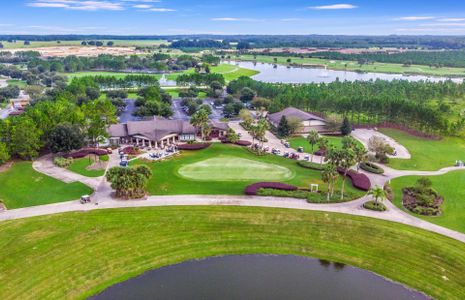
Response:
[[[228,163],[226,158],[235,160],[238,164]],[[147,165],[153,172],[148,184],[152,195],[242,195],[246,186],[270,181],[270,176],[276,179],[272,181],[306,188],[311,183],[316,183],[320,185],[320,190],[326,190],[320,172],[302,168],[294,160],[271,154],[256,156],[245,148],[225,144],[213,144],[200,151],[183,151],[180,156]],[[210,168],[212,165],[214,168]],[[264,171],[257,172],[257,167]],[[274,174],[267,174],[269,170],[273,170]],[[188,178],[185,177],[186,174]],[[231,174],[240,177],[233,181]],[[200,177],[193,179],[195,176]],[[353,196],[364,195],[354,189],[349,181],[346,187],[346,191]]]

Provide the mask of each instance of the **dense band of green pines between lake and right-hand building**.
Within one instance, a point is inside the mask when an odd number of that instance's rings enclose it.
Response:
[[[270,112],[294,106],[305,111],[337,113],[353,123],[365,119],[370,123],[385,121],[405,125],[428,133],[455,134],[463,120],[452,122],[433,99],[465,96],[465,84],[445,82],[356,81],[321,84],[269,84],[242,77],[232,81],[228,93],[240,94],[250,88],[260,97],[272,99]]]

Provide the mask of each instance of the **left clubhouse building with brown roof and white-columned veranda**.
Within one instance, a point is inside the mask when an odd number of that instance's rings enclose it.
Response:
[[[229,128],[222,122],[212,121],[210,125],[212,138],[224,136]],[[157,117],[145,121],[114,124],[108,128],[111,145],[135,144],[156,149],[179,142],[194,141],[196,133],[196,128],[189,121]]]

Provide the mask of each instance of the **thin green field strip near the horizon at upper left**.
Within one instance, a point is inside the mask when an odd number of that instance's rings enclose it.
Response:
[[[106,45],[106,42],[109,40],[99,40],[103,41]],[[115,44],[114,47],[146,47],[146,46],[159,46],[161,44],[167,44],[165,40],[112,40]],[[43,48],[43,47],[59,47],[59,46],[81,46],[81,40],[79,41],[44,41],[44,42],[31,42],[31,45],[24,45],[24,41],[17,41],[16,43],[3,42],[5,49],[34,49],[34,48]]]

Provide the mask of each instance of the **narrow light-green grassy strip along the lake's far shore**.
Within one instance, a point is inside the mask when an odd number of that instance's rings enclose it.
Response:
[[[253,55],[240,55],[233,57],[233,59],[274,63],[273,56],[257,55],[254,59]],[[465,68],[435,68],[423,65],[411,65],[404,67],[402,64],[392,63],[373,63],[360,66],[356,61],[344,60],[329,60],[320,58],[300,58],[300,57],[277,57],[278,64],[288,65],[287,59],[291,59],[291,64],[298,65],[319,65],[326,66],[332,70],[347,70],[357,72],[374,72],[374,73],[394,73],[394,74],[418,74],[418,75],[431,75],[431,76],[457,76],[465,77]]]

